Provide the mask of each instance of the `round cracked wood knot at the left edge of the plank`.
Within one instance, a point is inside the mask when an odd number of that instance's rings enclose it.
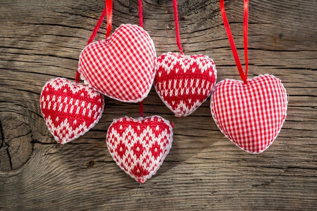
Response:
[[[9,172],[29,159],[32,134],[25,118],[13,112],[0,112],[0,171]]]

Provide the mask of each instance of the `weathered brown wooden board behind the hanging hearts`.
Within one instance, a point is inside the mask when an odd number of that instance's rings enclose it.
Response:
[[[213,58],[218,79],[239,79],[219,2],[179,0],[185,54]],[[243,58],[243,1],[225,1]],[[111,159],[113,118],[138,105],[106,98],[100,122],[58,145],[39,109],[45,82],[74,79],[78,56],[104,8],[93,0],[0,0],[0,210],[315,210],[317,207],[317,1],[250,1],[249,77],[269,73],[289,94],[286,122],[263,153],[248,154],[217,129],[208,99],[176,118],[152,89],[144,115],[173,121],[170,154],[140,185]],[[143,1],[157,55],[178,52],[170,0]],[[138,24],[137,0],[113,2],[112,31]],[[96,39],[105,35],[103,23]]]

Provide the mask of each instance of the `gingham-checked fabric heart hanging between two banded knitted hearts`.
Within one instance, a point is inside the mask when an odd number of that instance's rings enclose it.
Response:
[[[153,40],[142,27],[121,25],[106,40],[82,51],[78,71],[98,92],[123,102],[140,102],[148,95],[156,72]]]

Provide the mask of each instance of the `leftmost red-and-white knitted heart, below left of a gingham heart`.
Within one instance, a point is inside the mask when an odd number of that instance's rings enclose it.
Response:
[[[40,106],[49,131],[60,144],[88,132],[99,121],[103,96],[66,78],[53,78],[42,89]]]

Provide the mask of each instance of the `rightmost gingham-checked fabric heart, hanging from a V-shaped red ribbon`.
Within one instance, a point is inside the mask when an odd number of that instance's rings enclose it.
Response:
[[[220,81],[212,93],[211,113],[220,131],[241,149],[260,153],[280,133],[288,96],[280,79],[259,75]]]

